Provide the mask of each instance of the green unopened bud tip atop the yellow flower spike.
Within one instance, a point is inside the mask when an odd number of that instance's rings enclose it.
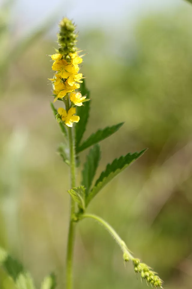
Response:
[[[58,52],[63,55],[63,59],[67,62],[71,60],[71,53],[75,53],[76,48],[76,38],[75,32],[76,26],[68,18],[63,18],[59,23],[60,32],[58,33]]]

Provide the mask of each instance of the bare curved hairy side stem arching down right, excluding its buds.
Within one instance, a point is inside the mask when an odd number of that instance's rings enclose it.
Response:
[[[102,219],[99,216],[93,215],[93,214],[84,214],[81,217],[82,219],[84,218],[91,218],[95,219],[97,222],[99,222],[101,225],[104,226],[105,229],[112,235],[112,237],[115,239],[119,247],[122,249],[123,253],[131,260],[134,260],[134,257],[131,255],[130,251],[128,250],[127,245],[125,242],[119,237],[117,232],[111,227],[110,224],[108,224],[104,219]]]

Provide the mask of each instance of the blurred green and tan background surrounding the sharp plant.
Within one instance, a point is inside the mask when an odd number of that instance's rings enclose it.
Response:
[[[102,141],[97,176],[127,152],[148,151],[104,188],[89,212],[106,219],[166,289],[192,281],[192,5],[182,0],[0,4],[0,244],[40,286],[49,272],[64,288],[69,169],[56,153],[51,62],[57,23],[72,18],[91,90],[85,137],[125,121]],[[82,153],[78,172],[80,182]],[[75,288],[147,288],[104,228],[79,223]],[[0,287],[14,289],[0,269]]]

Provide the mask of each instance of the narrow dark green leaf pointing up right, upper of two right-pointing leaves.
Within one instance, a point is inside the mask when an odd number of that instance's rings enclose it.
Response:
[[[97,144],[99,141],[108,138],[110,135],[113,135],[124,123],[118,123],[114,126],[107,126],[105,129],[99,129],[97,132],[90,135],[79,147],[76,147],[76,153],[78,154],[81,151],[84,151],[86,148],[89,148],[93,144]]]

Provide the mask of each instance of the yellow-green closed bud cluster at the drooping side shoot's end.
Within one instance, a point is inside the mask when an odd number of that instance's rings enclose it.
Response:
[[[155,288],[162,288],[163,281],[159,276],[145,263],[141,263],[139,259],[133,259],[134,270],[136,273],[141,273],[141,278],[146,279],[148,283],[153,285]]]

